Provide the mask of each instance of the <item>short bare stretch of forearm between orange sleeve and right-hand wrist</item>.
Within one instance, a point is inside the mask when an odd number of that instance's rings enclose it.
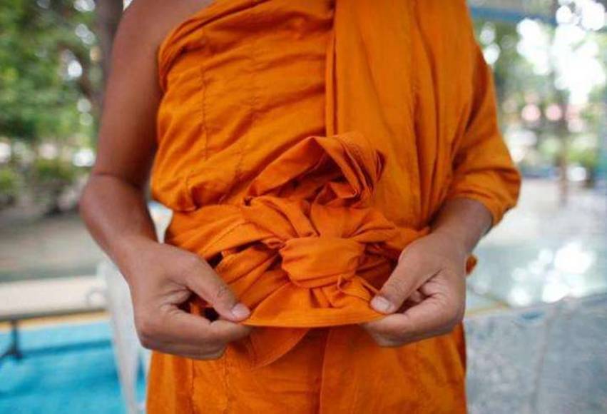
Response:
[[[446,234],[469,254],[489,231],[491,223],[491,212],[483,203],[470,198],[452,198],[444,203],[431,227],[433,233]]]

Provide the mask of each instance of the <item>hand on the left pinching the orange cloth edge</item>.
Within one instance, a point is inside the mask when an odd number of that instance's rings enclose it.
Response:
[[[128,243],[125,278],[131,289],[135,325],[143,347],[187,358],[220,358],[228,343],[251,327],[240,324],[250,310],[200,256],[150,239]],[[192,294],[205,299],[218,320],[181,307]]]

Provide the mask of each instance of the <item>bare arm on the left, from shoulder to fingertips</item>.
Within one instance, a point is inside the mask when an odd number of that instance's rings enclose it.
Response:
[[[144,196],[161,99],[155,54],[168,30],[201,3],[136,0],[125,12],[113,46],[98,157],[80,208],[91,235],[131,288],[143,345],[208,359],[248,335],[250,328],[237,322],[249,311],[202,258],[158,243]],[[182,310],[192,293],[212,303],[220,320]]]

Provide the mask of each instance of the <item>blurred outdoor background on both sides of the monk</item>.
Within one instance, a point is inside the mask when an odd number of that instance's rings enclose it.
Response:
[[[2,413],[143,409],[128,290],[76,212],[126,6],[0,1]],[[607,413],[607,1],[469,6],[524,173],[469,278],[469,410]]]

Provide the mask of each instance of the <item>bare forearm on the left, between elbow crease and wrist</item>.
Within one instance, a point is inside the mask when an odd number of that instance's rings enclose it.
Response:
[[[142,189],[116,176],[93,173],[80,211],[93,238],[122,271],[141,242],[157,241]]]

